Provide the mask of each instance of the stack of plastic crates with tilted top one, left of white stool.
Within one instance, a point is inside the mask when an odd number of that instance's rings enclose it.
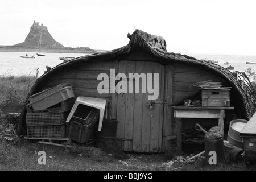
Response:
[[[72,86],[60,84],[28,98],[27,137],[64,138],[65,121],[74,104]]]

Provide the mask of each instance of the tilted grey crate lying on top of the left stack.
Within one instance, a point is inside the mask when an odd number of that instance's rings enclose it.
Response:
[[[64,88],[50,92],[49,94],[44,94],[42,97],[36,97],[38,99],[27,104],[28,107],[32,107],[31,110],[44,110],[53,105],[67,100],[68,98],[75,97],[73,93],[72,86],[66,86]]]

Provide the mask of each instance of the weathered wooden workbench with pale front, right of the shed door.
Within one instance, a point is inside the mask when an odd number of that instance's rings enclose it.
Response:
[[[181,118],[212,118],[218,119],[218,127],[224,134],[224,118],[225,110],[233,110],[234,107],[203,107],[203,106],[171,106],[174,111],[174,119],[177,127],[177,152],[181,155],[182,152],[182,119]]]

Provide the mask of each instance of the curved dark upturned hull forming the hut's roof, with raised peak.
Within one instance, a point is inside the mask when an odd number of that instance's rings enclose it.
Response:
[[[107,51],[102,53],[94,53],[92,55],[86,55],[77,57],[75,59],[69,60],[65,63],[61,63],[56,67],[52,68],[47,73],[44,73],[38,80],[36,80],[34,86],[32,87],[28,97],[40,91],[40,88],[44,85],[45,81],[48,81],[52,75],[63,69],[68,69],[75,64],[89,64],[92,61],[113,61],[122,59],[123,57],[131,55],[134,51],[146,51],[150,55],[156,58],[161,64],[170,63],[186,63],[193,65],[200,65],[206,69],[216,72],[218,75],[224,78],[226,84],[232,86],[234,93],[238,94],[237,105],[235,106],[235,111],[238,113],[238,117],[242,119],[250,119],[254,114],[255,106],[250,103],[249,98],[246,96],[245,90],[242,86],[237,83],[236,75],[233,75],[228,69],[221,67],[220,65],[210,63],[205,60],[197,60],[194,57],[189,57],[187,55],[176,54],[166,51],[166,41],[155,35],[147,34],[141,30],[136,30],[132,35],[128,34],[130,38],[129,44],[113,51]],[[254,93],[255,94],[255,93]],[[28,101],[26,101],[26,104]],[[22,123],[26,121],[26,107],[22,111],[20,116],[20,122],[18,126],[18,134],[21,134]]]

